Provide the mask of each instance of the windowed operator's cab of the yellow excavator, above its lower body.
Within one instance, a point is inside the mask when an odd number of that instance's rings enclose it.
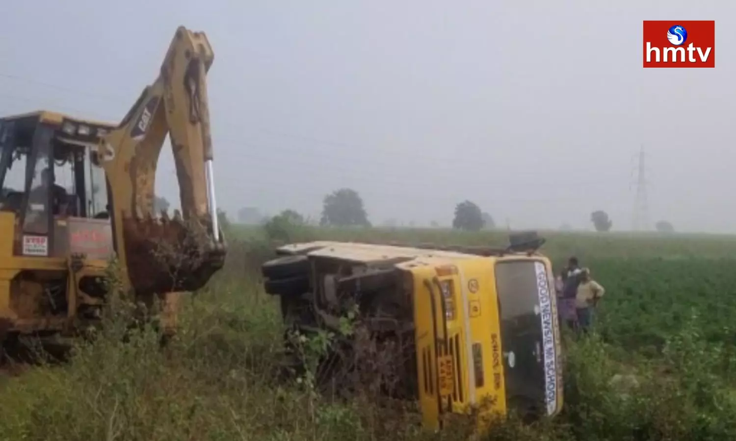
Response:
[[[110,129],[52,112],[0,119],[0,210],[14,217],[14,256],[113,256],[105,171],[96,151]]]

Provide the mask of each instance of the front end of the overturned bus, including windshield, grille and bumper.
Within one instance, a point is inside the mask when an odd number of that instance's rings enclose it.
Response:
[[[443,414],[473,406],[481,415],[539,406],[559,412],[561,347],[548,259],[447,259],[410,270],[425,426],[440,429]]]

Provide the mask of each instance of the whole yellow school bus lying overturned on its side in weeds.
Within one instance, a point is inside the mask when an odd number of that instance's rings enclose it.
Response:
[[[263,265],[266,292],[302,332],[338,326],[354,301],[373,334],[403,334],[402,381],[422,422],[475,409],[554,416],[562,408],[562,357],[550,260],[513,248],[403,247],[312,242],[277,248]],[[394,323],[394,326],[386,326]]]

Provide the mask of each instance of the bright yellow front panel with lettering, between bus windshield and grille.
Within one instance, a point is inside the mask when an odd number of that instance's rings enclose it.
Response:
[[[481,415],[506,415],[503,352],[493,261],[467,262],[468,316],[473,345],[475,396]]]

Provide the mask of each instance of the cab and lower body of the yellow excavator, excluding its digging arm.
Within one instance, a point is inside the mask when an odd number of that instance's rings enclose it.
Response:
[[[45,111],[0,118],[0,342],[99,318],[115,248],[95,158],[112,128]]]

